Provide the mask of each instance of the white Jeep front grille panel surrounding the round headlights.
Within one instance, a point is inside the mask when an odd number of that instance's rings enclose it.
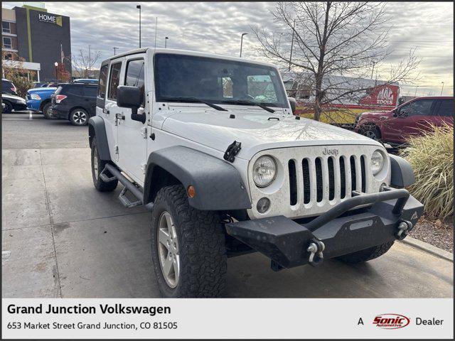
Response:
[[[275,158],[277,178],[267,188],[257,188],[249,178],[252,210],[250,217],[311,217],[320,215],[343,200],[351,197],[353,190],[362,193],[379,192],[380,185],[390,183],[390,162],[385,171],[373,176],[370,158],[381,149],[372,145],[338,145],[336,154],[325,155],[325,146],[301,146],[269,149],[257,153],[252,165],[262,155]],[[385,152],[385,151],[384,151]],[[265,213],[256,210],[261,197],[269,198],[270,209]]]

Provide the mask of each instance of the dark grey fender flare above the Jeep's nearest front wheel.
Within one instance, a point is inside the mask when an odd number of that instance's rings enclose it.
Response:
[[[144,205],[154,200],[154,171],[159,167],[173,175],[185,189],[193,185],[188,202],[197,210],[246,210],[251,208],[240,173],[230,163],[183,146],[154,151],[149,155],[144,180]]]

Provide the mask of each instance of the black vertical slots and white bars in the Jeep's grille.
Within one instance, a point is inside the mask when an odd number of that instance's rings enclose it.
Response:
[[[349,166],[346,169],[346,159]],[[303,202],[322,202],[344,199],[351,190],[365,193],[366,171],[365,156],[329,156],[328,158],[304,158],[301,162],[301,173],[296,171],[296,161],[289,160],[289,203],[298,203],[297,177],[303,178]],[[310,165],[314,165],[311,172]],[[312,174],[311,174],[312,173]]]

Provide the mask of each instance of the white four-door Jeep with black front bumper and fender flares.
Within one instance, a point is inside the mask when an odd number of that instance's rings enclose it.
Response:
[[[93,183],[151,210],[164,297],[219,296],[227,258],[252,251],[276,271],[368,261],[422,215],[409,163],[293,109],[267,63],[154,48],[102,63]]]

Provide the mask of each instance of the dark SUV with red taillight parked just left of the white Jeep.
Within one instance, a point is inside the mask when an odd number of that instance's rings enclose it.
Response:
[[[95,116],[98,85],[90,83],[62,84],[52,95],[53,118],[68,119],[75,126],[87,125]]]

